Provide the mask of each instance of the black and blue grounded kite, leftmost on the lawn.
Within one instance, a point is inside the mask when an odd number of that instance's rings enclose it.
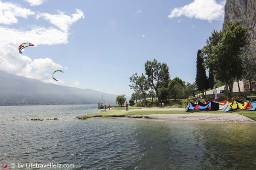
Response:
[[[188,111],[218,111],[219,110],[219,104],[216,102],[209,102],[207,104],[197,102],[198,104],[189,102],[189,105],[187,105],[186,112]]]

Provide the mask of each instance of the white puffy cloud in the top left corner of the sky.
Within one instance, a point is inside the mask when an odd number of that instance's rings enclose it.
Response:
[[[17,23],[17,17],[27,18],[29,15],[35,13],[27,8],[21,8],[14,3],[3,3],[0,1],[0,23],[1,24],[14,24]]]

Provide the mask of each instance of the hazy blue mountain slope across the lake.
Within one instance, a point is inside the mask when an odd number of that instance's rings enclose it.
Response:
[[[72,105],[115,103],[116,95],[45,83],[0,71],[0,105]],[[129,97],[128,97],[129,98]]]

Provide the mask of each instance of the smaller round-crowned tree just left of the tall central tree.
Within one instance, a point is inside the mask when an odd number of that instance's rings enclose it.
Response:
[[[143,95],[144,103],[146,104],[146,96],[149,89],[148,79],[143,74],[138,76],[138,74],[135,73],[130,77],[130,82],[131,85],[129,85],[129,87],[134,91],[141,93]]]

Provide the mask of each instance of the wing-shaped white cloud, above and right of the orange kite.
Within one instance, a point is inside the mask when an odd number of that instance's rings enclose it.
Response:
[[[36,19],[43,17],[62,31],[67,32],[71,24],[75,23],[80,18],[84,18],[84,13],[80,9],[76,9],[76,13],[72,14],[72,17],[65,15],[62,11],[58,11],[58,13],[59,14],[53,15],[48,13],[39,13],[36,16]]]

